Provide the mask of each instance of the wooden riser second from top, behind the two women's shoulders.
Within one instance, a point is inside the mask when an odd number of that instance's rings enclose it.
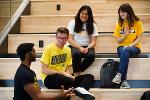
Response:
[[[139,14],[144,31],[150,31],[150,14]],[[54,33],[58,27],[67,26],[74,15],[32,15],[21,16],[20,33]],[[116,14],[94,15],[98,32],[113,32],[117,22]]]

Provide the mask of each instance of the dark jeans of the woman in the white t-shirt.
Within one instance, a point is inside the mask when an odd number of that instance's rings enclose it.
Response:
[[[87,54],[81,53],[77,48],[69,46],[72,52],[73,72],[85,71],[95,60],[95,50],[91,48]],[[84,58],[81,61],[81,58]]]

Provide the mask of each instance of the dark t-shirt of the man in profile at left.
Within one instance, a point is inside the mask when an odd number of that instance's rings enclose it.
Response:
[[[38,86],[35,72],[21,64],[14,77],[14,100],[33,100],[24,90],[24,86],[29,83]]]

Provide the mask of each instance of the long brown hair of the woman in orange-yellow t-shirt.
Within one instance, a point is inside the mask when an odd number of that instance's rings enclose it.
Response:
[[[133,8],[130,6],[130,4],[125,3],[120,5],[119,9],[118,9],[118,14],[119,14],[119,25],[122,26],[123,25],[123,19],[120,16],[120,11],[122,12],[127,12],[127,20],[129,23],[129,26],[132,27],[134,25],[135,21],[139,21],[140,19],[135,15]]]

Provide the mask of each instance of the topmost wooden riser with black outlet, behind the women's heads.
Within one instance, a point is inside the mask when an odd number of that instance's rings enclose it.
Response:
[[[94,14],[117,14],[123,3],[130,3],[136,14],[150,12],[149,0],[31,0],[31,15],[74,15],[85,4]]]

